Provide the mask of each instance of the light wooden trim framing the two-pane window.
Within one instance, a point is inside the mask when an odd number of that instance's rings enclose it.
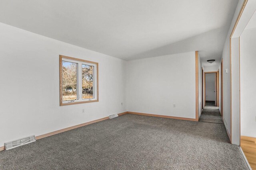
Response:
[[[92,64],[96,64],[97,66],[97,100],[91,100],[91,101],[84,101],[84,102],[72,102],[72,103],[63,103],[62,102],[62,59],[70,59],[70,60],[76,60],[76,61],[82,61],[85,63],[92,63]],[[82,59],[77,59],[77,58],[73,58],[73,57],[68,57],[68,56],[64,56],[64,55],[60,55],[59,57],[59,79],[60,79],[60,106],[67,106],[67,105],[73,105],[73,104],[83,104],[83,103],[91,103],[91,102],[98,102],[99,101],[99,66],[98,63],[93,62],[93,61],[87,61],[87,60],[82,60]]]

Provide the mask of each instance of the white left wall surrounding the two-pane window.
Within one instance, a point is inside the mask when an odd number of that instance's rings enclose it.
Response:
[[[0,37],[0,146],[126,111],[126,61],[3,23]],[[59,106],[59,55],[99,63],[99,102]]]

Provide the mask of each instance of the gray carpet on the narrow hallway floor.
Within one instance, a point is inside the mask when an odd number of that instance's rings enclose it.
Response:
[[[224,124],[219,107],[216,107],[214,102],[206,102],[199,121]]]

